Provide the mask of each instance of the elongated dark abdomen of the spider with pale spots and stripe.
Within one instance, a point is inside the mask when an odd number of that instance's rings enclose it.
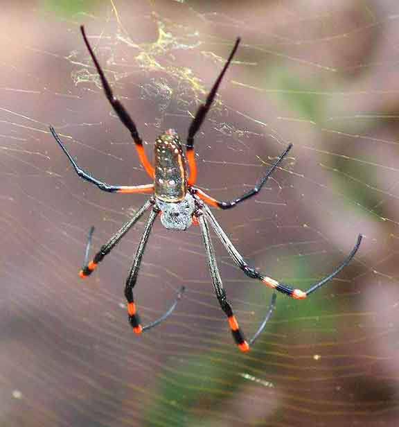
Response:
[[[186,156],[179,135],[169,129],[155,141],[155,195],[165,202],[179,202],[187,192]]]

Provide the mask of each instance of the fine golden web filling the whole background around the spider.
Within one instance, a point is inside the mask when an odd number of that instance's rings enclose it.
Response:
[[[9,2],[0,15],[1,426],[396,426],[397,2],[76,3]],[[82,23],[149,155],[162,130],[185,137],[242,37],[195,148],[199,186],[225,200],[294,144],[259,195],[215,212],[249,263],[305,289],[364,234],[311,298],[278,295],[248,354],[233,345],[197,227],[154,226],[135,289],[143,322],[187,290],[151,333],[132,333],[123,297],[144,220],[80,281],[91,225],[97,250],[147,196],[79,180],[48,125],[95,177],[149,182]],[[213,243],[251,336],[272,292]]]

